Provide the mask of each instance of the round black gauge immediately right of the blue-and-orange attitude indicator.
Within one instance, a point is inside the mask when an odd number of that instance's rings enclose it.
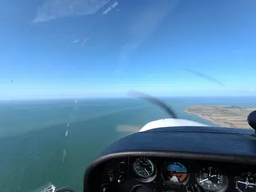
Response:
[[[196,183],[204,191],[224,192],[228,188],[228,177],[217,168],[202,168],[196,174]]]

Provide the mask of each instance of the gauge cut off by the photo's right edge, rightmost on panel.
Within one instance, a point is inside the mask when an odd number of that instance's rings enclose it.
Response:
[[[250,172],[236,177],[236,191],[238,192],[255,192],[256,176]]]

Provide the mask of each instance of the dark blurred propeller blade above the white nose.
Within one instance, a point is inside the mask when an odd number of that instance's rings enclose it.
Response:
[[[177,119],[177,116],[175,115],[175,113],[173,112],[171,107],[168,106],[167,104],[165,104],[160,99],[157,99],[156,97],[152,97],[151,95],[146,95],[145,93],[142,93],[142,92],[139,92],[139,91],[134,91],[134,90],[128,91],[127,95],[130,95],[132,97],[137,97],[137,98],[140,98],[140,99],[144,99],[144,100],[146,100],[150,103],[156,104],[159,107],[162,107],[163,110],[165,110],[167,112],[167,114],[169,114],[173,118]]]

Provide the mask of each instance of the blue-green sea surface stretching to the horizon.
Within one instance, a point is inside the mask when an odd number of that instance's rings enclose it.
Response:
[[[255,97],[163,100],[179,118],[212,126],[184,110],[190,105],[256,107]],[[169,116],[140,99],[0,101],[0,191],[35,191],[47,183],[82,191],[87,165],[104,147],[129,134],[116,131],[117,125],[143,126],[160,118]]]

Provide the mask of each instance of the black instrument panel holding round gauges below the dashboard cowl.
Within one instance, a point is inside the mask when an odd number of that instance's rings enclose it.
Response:
[[[104,166],[102,191],[256,192],[256,166],[152,157],[112,159]]]

